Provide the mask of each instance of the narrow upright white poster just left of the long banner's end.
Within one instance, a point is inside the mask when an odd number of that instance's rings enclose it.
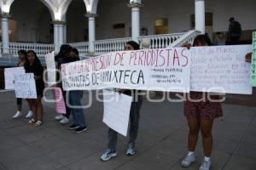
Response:
[[[56,83],[56,67],[55,67],[55,52],[46,54],[44,56],[47,67],[47,83],[49,86],[55,85]]]

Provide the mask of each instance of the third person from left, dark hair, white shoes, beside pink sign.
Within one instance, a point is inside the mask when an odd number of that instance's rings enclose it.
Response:
[[[64,63],[67,62],[66,60],[68,59],[68,56],[69,56],[71,50],[72,50],[72,47],[70,45],[67,45],[67,44],[61,45],[59,54],[57,54],[55,56],[55,61],[57,61],[57,66],[58,66],[59,71],[60,71],[61,64],[64,64]],[[65,101],[65,104],[66,104],[67,103],[66,102],[67,101],[67,99],[66,99],[67,94],[66,94],[66,91],[64,91],[63,88],[62,88],[62,84],[61,84],[61,81],[60,81],[61,80],[60,79],[60,74],[57,74],[57,76],[58,76],[57,77],[57,79],[58,79],[57,82],[59,82],[57,84],[57,86],[59,88],[61,88],[61,91],[62,91],[62,94],[63,94],[63,97],[64,97],[64,101]],[[55,116],[55,120],[59,121],[61,124],[67,124],[69,122],[70,108],[67,105],[65,105],[65,106],[66,106],[67,113],[65,115]]]

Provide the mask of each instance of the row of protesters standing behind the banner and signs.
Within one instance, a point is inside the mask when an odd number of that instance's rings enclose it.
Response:
[[[195,37],[194,47],[201,46],[211,46],[212,42],[207,35],[200,35]],[[184,45],[190,48],[189,44]],[[125,50],[137,50],[139,49],[139,44],[137,42],[127,42],[125,44]],[[43,67],[37,55],[33,51],[20,52],[19,56],[20,63],[24,63],[26,72],[33,72],[35,75],[35,80],[37,84],[38,99],[27,99],[28,104],[33,112],[33,118],[29,121],[30,124],[39,126],[43,123],[43,107],[41,103],[41,98],[43,96],[44,82]],[[25,58],[25,59],[24,59]],[[249,60],[247,56],[247,61]],[[23,60],[24,59],[24,60]],[[61,64],[73,62],[79,60],[79,52],[76,48],[72,48],[69,45],[62,45],[59,54],[55,56],[55,61],[57,62],[57,69],[61,70]],[[21,64],[19,64],[21,65]],[[57,87],[62,89],[61,83],[57,84]],[[125,154],[127,156],[133,156],[136,154],[135,146],[138,135],[138,127],[140,120],[140,110],[143,105],[143,96],[139,95],[138,90],[128,90],[128,89],[116,89],[120,94],[126,94],[133,97],[130,112],[130,139],[128,141]],[[56,116],[55,119],[61,123],[69,122],[70,115],[73,116],[73,124],[68,127],[70,130],[74,130],[75,133],[81,133],[87,130],[84,120],[84,112],[81,107],[81,99],[83,97],[83,91],[63,91],[63,96],[66,104],[69,103],[70,107],[66,105],[67,114]],[[203,94],[201,92],[191,92],[189,97],[184,103],[184,116],[187,118],[189,126],[188,134],[188,153],[184,156],[181,161],[182,167],[189,167],[192,163],[196,161],[195,148],[198,141],[199,133],[202,135],[202,146],[204,151],[204,159],[201,162],[200,170],[209,170],[211,167],[211,155],[212,155],[212,125],[215,118],[222,116],[222,108],[219,102],[211,101],[210,99],[202,100]],[[218,96],[216,96],[218,98]],[[193,100],[191,100],[193,99]],[[68,102],[67,102],[68,100]],[[20,104],[20,103],[19,103]],[[15,116],[16,117],[16,116]],[[111,158],[117,156],[116,144],[118,139],[118,133],[113,129],[108,129],[108,147],[107,150],[101,156],[102,161],[109,161]]]

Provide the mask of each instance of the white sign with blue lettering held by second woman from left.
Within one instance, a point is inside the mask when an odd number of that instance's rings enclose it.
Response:
[[[37,88],[33,73],[15,75],[16,98],[37,99]]]

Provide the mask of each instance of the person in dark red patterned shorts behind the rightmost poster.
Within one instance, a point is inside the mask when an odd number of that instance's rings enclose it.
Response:
[[[210,46],[212,42],[206,35],[195,37],[194,47]],[[218,96],[211,96],[218,99]],[[212,124],[218,116],[222,116],[222,108],[219,102],[211,99],[203,100],[203,93],[190,92],[184,104],[184,116],[187,117],[189,125],[188,150],[189,153],[181,162],[183,167],[189,167],[196,160],[195,147],[198,134],[201,130],[203,150],[205,158],[201,163],[200,170],[209,170],[211,167],[212,154]]]

